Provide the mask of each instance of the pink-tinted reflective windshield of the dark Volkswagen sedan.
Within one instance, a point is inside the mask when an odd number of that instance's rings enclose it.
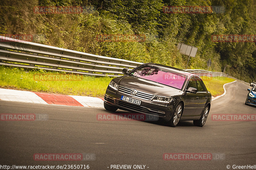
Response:
[[[180,74],[180,73],[177,73],[165,68],[161,68],[161,67],[156,67],[153,65],[143,65],[137,70],[134,70],[130,75],[151,80],[164,85],[168,85],[180,90],[187,78],[187,76],[184,74]]]

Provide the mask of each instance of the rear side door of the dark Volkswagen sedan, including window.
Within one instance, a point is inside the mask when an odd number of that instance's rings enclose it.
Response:
[[[196,78],[196,85],[198,90],[197,96],[199,97],[197,108],[196,108],[196,115],[200,116],[201,113],[203,112],[203,109],[207,101],[207,92],[204,88],[203,81],[201,80],[201,78],[199,77]]]

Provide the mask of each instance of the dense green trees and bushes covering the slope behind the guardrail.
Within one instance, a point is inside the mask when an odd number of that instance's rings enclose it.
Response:
[[[164,6],[224,6],[224,13],[170,14]],[[35,6],[86,6],[82,14],[36,14]],[[256,34],[255,0],[4,0],[0,34],[32,34],[35,41],[96,55],[185,69],[177,44],[198,48],[188,69],[256,80],[255,42],[213,42],[214,34]],[[143,42],[99,42],[98,34],[145,34]],[[43,38],[42,38],[43,37]]]

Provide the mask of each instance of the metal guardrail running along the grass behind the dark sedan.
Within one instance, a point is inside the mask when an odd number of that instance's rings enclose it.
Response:
[[[92,76],[118,77],[124,75],[122,73],[124,68],[133,69],[140,64],[143,63],[0,36],[0,65],[26,69],[64,71]],[[186,71],[198,76],[233,78],[222,72],[189,69]],[[246,83],[239,79],[236,80]]]

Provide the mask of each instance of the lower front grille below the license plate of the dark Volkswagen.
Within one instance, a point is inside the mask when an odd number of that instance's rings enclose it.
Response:
[[[116,100],[116,105],[119,105],[119,106],[122,106],[122,107],[125,107],[125,108],[128,108],[128,109],[132,109],[132,110],[135,110],[137,112],[148,113],[148,114],[157,115],[157,116],[165,116],[165,113],[159,113],[155,109],[148,110],[146,107],[142,107],[142,106],[139,106],[139,105],[128,103],[128,102],[125,102],[125,101],[122,101],[122,100]]]

